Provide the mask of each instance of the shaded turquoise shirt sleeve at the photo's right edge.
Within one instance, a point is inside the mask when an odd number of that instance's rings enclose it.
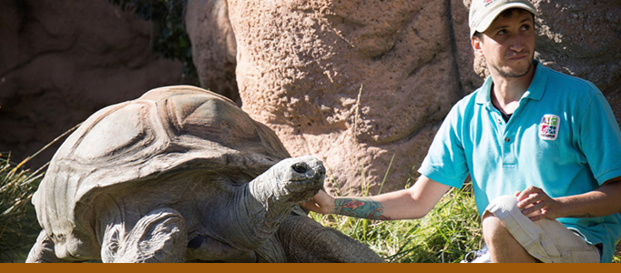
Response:
[[[580,119],[579,145],[599,185],[621,176],[621,131],[610,105],[597,89]]]

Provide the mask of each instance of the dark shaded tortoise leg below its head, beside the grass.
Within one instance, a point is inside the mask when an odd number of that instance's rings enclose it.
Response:
[[[323,227],[310,217],[285,218],[277,231],[292,263],[382,263],[384,260],[361,242],[340,231]]]

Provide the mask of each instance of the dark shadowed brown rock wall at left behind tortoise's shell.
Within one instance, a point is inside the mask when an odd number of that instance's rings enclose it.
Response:
[[[20,161],[104,106],[190,82],[151,51],[155,33],[107,0],[0,1],[0,153]]]

